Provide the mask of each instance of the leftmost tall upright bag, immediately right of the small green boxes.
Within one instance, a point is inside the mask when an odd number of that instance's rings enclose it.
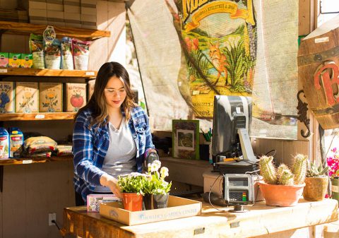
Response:
[[[44,69],[44,44],[42,35],[30,34],[30,52],[33,56],[33,68]]]

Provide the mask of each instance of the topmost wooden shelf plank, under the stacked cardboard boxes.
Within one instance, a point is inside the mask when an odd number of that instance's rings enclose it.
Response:
[[[0,21],[0,32],[7,34],[30,35],[34,33],[42,35],[47,25],[36,25],[30,23],[13,23],[10,21]],[[95,40],[102,37],[109,37],[111,32],[107,30],[92,30],[83,28],[66,28],[54,26],[57,37],[76,37],[81,40]]]

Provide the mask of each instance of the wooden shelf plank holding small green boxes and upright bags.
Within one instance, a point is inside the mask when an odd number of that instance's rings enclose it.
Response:
[[[67,69],[0,68],[0,76],[95,78],[97,76],[97,71],[82,71]]]

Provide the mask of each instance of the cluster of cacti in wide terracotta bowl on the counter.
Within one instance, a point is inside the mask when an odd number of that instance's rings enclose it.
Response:
[[[260,174],[265,182],[259,182],[268,206],[295,206],[302,195],[307,172],[307,156],[296,155],[292,169],[281,164],[273,164],[272,156],[262,156],[259,160]]]

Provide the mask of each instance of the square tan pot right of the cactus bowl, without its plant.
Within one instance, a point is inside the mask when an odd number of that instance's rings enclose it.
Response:
[[[307,177],[302,193],[305,200],[322,201],[325,198],[328,186],[328,177]]]

